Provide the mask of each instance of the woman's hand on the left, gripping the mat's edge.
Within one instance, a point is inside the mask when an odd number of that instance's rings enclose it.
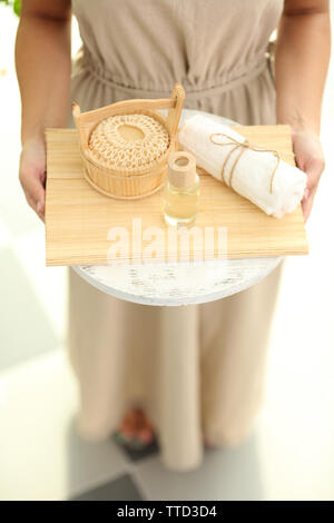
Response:
[[[45,220],[46,147],[41,139],[31,140],[23,146],[19,179],[28,204]]]

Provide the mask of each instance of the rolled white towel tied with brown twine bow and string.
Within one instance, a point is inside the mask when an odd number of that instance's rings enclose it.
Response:
[[[227,137],[213,136],[214,141],[229,145],[213,144],[209,136],[216,132]],[[267,215],[282,218],[286,213],[292,213],[303,198],[307,180],[303,170],[278,160],[271,151],[243,146],[242,152],[242,146],[236,145],[244,144],[246,139],[224,124],[195,115],[179,128],[177,140],[184,150],[193,152],[199,167],[218,180],[222,180],[223,165],[227,160],[224,181]],[[250,144],[250,147],[256,146]]]

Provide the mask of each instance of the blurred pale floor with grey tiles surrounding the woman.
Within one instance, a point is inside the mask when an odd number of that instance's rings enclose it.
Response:
[[[1,7],[0,500],[334,500],[333,63],[322,127],[327,166],[307,224],[311,254],[286,263],[263,408],[243,445],[207,450],[199,468],[177,473],[163,466],[157,441],[129,453],[112,437],[94,444],[77,435],[78,389],[65,347],[67,273],[45,267],[43,227],[17,176],[16,26]]]

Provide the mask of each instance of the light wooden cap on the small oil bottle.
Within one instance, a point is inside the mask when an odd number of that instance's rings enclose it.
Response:
[[[168,157],[168,178],[175,187],[189,187],[196,180],[196,157],[188,151],[178,150]]]

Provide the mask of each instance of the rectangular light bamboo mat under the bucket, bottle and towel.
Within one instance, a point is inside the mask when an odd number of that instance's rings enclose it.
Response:
[[[285,161],[294,164],[288,126],[234,127],[250,142],[277,149]],[[132,217],[141,218],[141,228],[156,226],[166,233],[163,191],[139,200],[116,200],[96,191],[84,178],[75,129],[47,129],[46,264],[106,265],[110,258],[110,227],[125,227],[131,234]],[[196,227],[227,227],[227,257],[263,257],[308,253],[301,206],[282,219],[267,216],[247,199],[234,193],[203,169],[200,211]],[[125,262],[140,260],[149,241],[143,239]],[[137,248],[137,251],[136,251]],[[166,243],[158,257],[166,258]],[[139,250],[138,250],[139,249]],[[198,259],[198,253],[193,253]],[[212,257],[217,257],[216,246]],[[115,255],[119,259],[119,255]]]

